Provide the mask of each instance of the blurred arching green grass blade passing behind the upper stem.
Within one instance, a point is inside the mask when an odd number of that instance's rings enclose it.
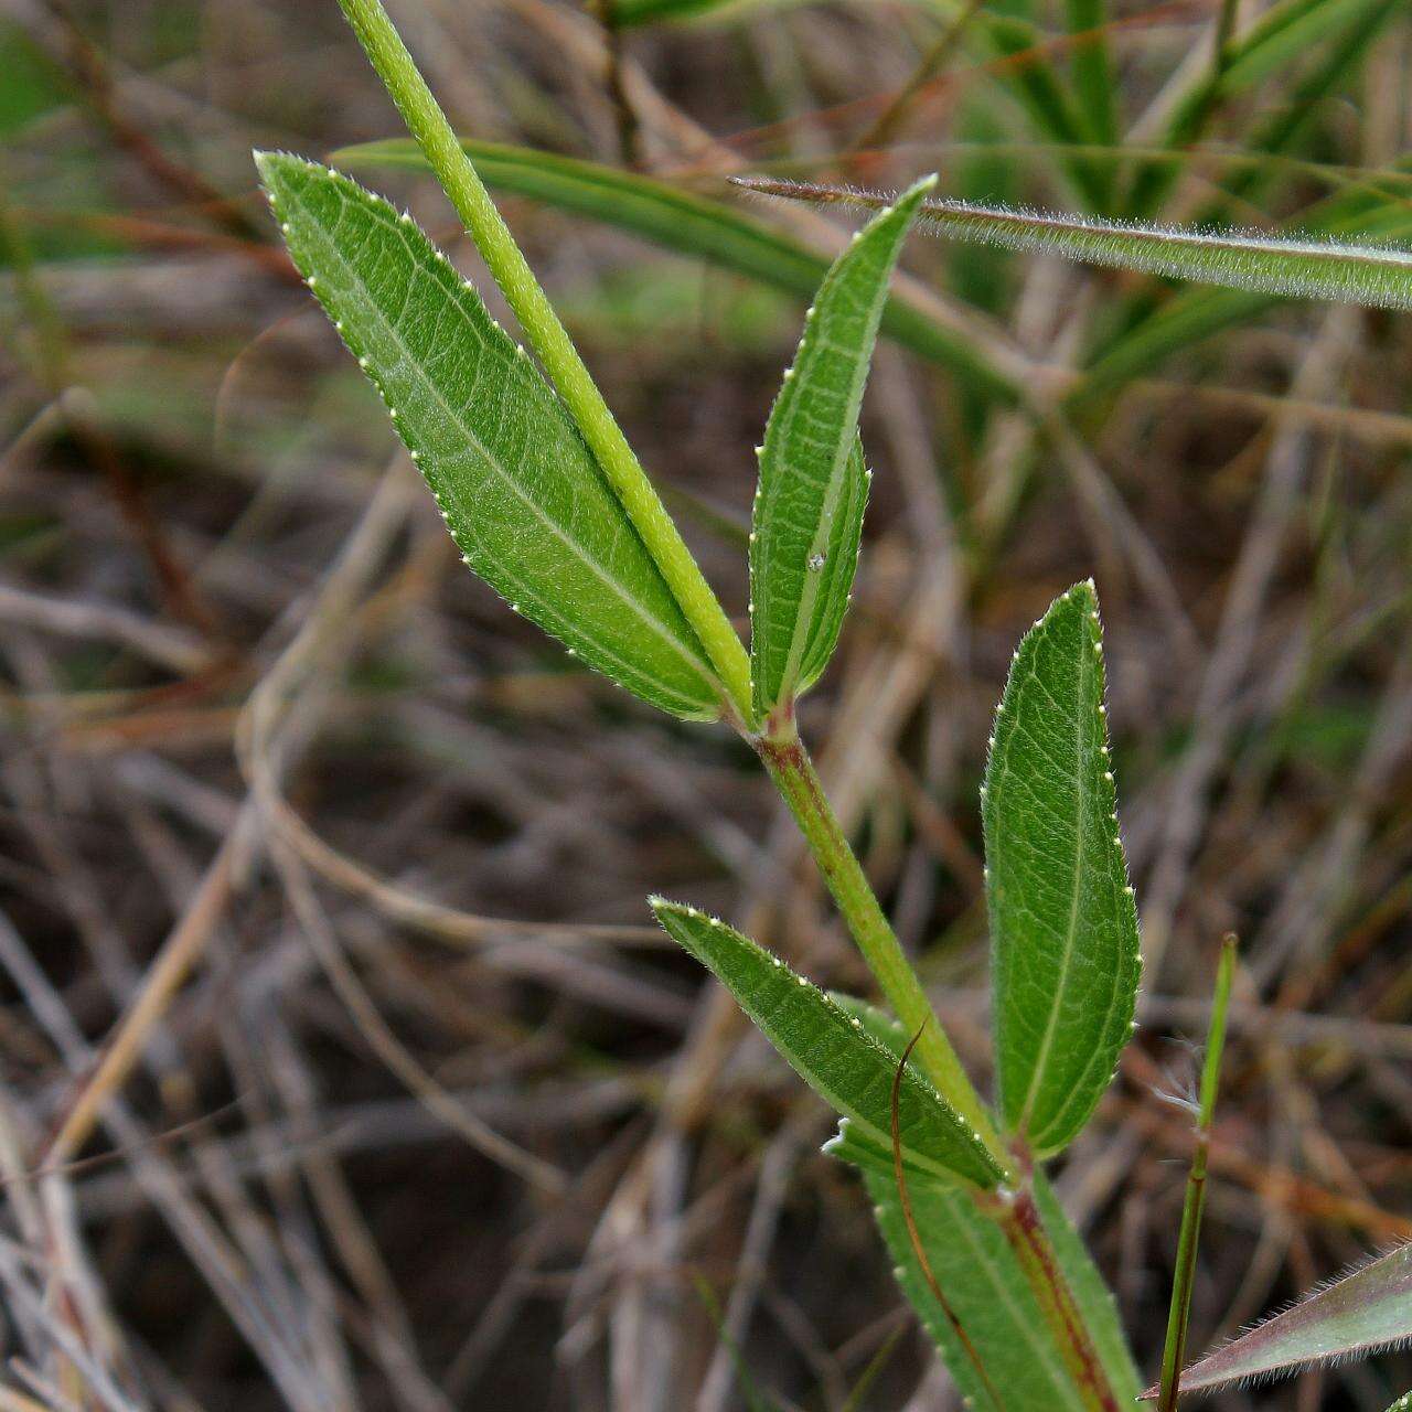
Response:
[[[621,172],[597,162],[538,152],[527,147],[463,140],[486,185],[528,196],[650,240],[676,254],[703,260],[786,294],[809,298],[829,261],[750,216],[720,202],[679,191],[668,182]],[[428,171],[415,143],[395,138],[346,147],[335,160],[350,168]],[[895,295],[882,313],[882,332],[914,353],[949,367],[969,383],[1005,400],[1017,387],[976,346],[916,305]]]

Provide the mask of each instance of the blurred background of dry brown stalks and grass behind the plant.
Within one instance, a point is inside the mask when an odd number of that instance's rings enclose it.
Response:
[[[730,174],[1412,239],[1398,0],[394,14],[741,617],[846,227]],[[400,137],[333,0],[0,3],[0,1406],[953,1408],[822,1106],[647,925],[863,986],[762,777],[462,569],[254,191]],[[405,147],[339,161],[479,278]],[[805,729],[984,1073],[988,719],[1097,579],[1148,969],[1059,1186],[1154,1368],[1227,928],[1193,1341],[1412,1236],[1412,321],[904,264]]]

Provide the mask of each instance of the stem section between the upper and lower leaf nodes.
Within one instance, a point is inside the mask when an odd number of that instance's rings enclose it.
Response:
[[[803,741],[791,726],[784,733],[754,737],[751,744],[795,816],[799,832],[805,836],[809,851],[833,894],[833,901],[888,1004],[905,1029],[912,1034],[921,1032],[916,1042],[918,1063],[936,1084],[936,1091],[976,1130],[1005,1171],[1007,1179],[1012,1178],[1014,1158],[995,1131],[897,933],[878,905],[867,875],[829,805]]]

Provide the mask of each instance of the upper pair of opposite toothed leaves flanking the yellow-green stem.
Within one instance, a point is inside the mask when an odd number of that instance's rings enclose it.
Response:
[[[337,172],[260,154],[285,241],[371,377],[466,562],[586,665],[689,720],[722,713],[700,642],[579,429],[407,216]],[[757,722],[827,666],[857,565],[857,439],[888,278],[933,178],[860,232],[809,312],[760,448],[750,549]]]

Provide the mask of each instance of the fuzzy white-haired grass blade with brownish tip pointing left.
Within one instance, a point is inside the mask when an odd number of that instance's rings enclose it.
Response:
[[[870,210],[887,203],[885,196],[873,192],[767,176],[741,178],[740,185],[771,196]],[[1412,253],[1405,250],[1336,240],[1121,225],[960,201],[925,202],[919,225],[956,240],[1062,256],[1113,270],[1199,280],[1261,294],[1412,309]]]

